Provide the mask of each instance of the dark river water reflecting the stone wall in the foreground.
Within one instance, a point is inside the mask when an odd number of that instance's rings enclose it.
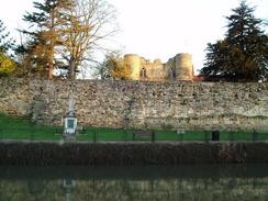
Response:
[[[0,201],[267,201],[268,165],[0,167]]]

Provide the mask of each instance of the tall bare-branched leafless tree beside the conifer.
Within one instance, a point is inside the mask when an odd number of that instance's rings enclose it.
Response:
[[[75,79],[82,62],[93,60],[92,53],[101,48],[100,42],[115,32],[114,13],[113,7],[104,0],[72,0],[64,11],[66,23],[62,26],[60,48],[70,79]]]

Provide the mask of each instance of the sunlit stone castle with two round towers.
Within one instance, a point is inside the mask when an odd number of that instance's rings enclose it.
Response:
[[[137,54],[124,55],[124,66],[131,69],[131,80],[165,81],[193,79],[192,56],[188,53],[177,54],[163,64],[160,59],[150,63]]]

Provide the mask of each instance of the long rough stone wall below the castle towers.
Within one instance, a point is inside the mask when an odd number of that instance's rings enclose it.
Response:
[[[158,129],[268,129],[268,83],[77,80],[80,125]],[[68,81],[2,80],[0,112],[62,125]]]

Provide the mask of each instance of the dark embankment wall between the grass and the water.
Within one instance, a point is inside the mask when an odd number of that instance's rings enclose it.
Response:
[[[0,142],[0,165],[174,166],[268,163],[268,142]]]

